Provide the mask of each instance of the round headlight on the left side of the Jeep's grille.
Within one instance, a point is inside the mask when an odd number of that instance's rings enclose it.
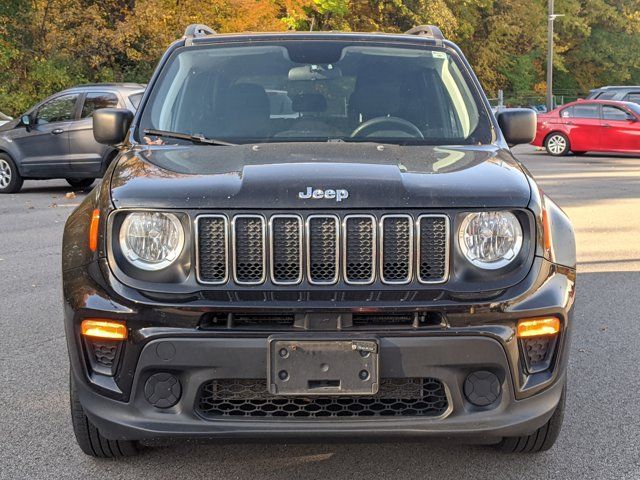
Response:
[[[130,213],[120,227],[120,248],[124,256],[143,270],[161,270],[182,253],[184,229],[171,213]]]

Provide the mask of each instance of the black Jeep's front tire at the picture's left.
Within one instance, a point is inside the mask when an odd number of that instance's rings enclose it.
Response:
[[[73,433],[75,433],[76,441],[84,453],[97,458],[120,458],[132,457],[140,452],[138,442],[109,440],[100,434],[100,431],[84,414],[71,373],[69,374],[69,394]]]

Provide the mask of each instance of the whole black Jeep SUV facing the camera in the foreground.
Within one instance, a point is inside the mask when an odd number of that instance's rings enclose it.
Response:
[[[456,436],[534,452],[562,423],[571,224],[435,27],[192,26],[63,242],[89,455],[164,437]]]

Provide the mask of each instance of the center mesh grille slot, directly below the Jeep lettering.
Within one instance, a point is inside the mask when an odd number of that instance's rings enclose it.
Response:
[[[338,219],[313,216],[308,219],[309,281],[331,284],[338,277]]]

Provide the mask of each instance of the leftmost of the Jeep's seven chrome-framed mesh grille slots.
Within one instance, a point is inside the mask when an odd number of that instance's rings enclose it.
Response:
[[[224,217],[198,219],[198,275],[207,283],[227,279],[227,220]]]

